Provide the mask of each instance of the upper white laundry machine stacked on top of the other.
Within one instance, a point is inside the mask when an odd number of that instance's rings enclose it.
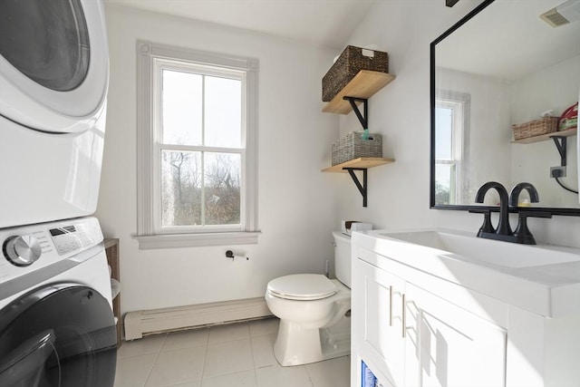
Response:
[[[0,1],[0,228],[94,212],[108,85],[101,0]]]

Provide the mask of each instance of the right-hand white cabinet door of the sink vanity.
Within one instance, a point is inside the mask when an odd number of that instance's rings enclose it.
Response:
[[[405,384],[506,385],[506,332],[409,283],[405,288]]]

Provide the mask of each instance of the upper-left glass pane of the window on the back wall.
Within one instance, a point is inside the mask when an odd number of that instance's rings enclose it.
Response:
[[[163,142],[201,145],[202,76],[163,70]]]

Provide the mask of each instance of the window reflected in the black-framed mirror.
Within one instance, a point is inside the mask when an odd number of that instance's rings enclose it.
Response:
[[[469,94],[439,93],[435,125],[435,204],[464,203]]]

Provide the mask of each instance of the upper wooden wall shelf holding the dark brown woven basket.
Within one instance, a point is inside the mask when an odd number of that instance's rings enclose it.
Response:
[[[343,90],[334,96],[331,102],[324,106],[323,111],[325,113],[348,114],[353,111],[353,108],[350,102],[345,101],[343,97],[371,98],[375,92],[380,91],[394,79],[395,76],[390,73],[361,70],[354,75],[351,82],[343,87]]]

